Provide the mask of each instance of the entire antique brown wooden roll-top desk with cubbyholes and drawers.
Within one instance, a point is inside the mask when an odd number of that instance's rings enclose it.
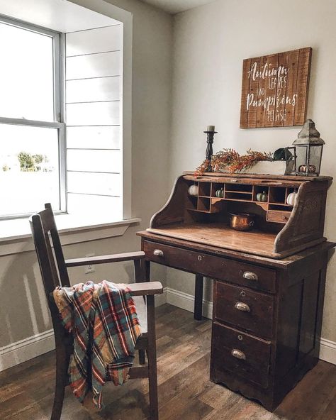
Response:
[[[139,232],[150,262],[213,279],[210,375],[269,410],[318,362],[325,275],[335,243],[323,236],[330,177],[225,175],[177,179],[171,197]],[[188,193],[192,184],[198,195]],[[222,190],[218,197],[218,190]],[[257,195],[262,192],[263,199]],[[287,197],[298,192],[295,203]],[[255,215],[235,231],[230,213]]]

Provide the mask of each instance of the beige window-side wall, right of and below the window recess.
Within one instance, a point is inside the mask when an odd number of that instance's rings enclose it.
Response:
[[[148,226],[169,194],[163,174],[168,171],[172,17],[136,0],[110,2],[133,13],[132,201],[133,216],[142,223],[118,238],[67,245],[65,258],[140,249],[135,233]],[[96,266],[96,273],[88,276],[84,268],[71,270],[72,282],[128,281],[133,275],[132,265],[122,263]],[[163,267],[153,267],[153,277],[164,276]],[[0,319],[0,348],[50,328],[34,252],[0,257]]]

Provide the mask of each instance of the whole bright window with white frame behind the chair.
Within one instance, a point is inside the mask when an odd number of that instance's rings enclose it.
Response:
[[[0,219],[65,211],[60,33],[0,17]]]

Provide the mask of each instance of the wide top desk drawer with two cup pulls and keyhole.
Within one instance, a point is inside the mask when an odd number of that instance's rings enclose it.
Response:
[[[148,260],[159,264],[253,289],[276,291],[276,271],[270,268],[150,241],[144,241],[143,250]]]

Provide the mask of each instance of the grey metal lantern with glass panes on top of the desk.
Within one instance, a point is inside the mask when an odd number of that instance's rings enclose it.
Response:
[[[313,120],[307,120],[293,146],[293,173],[303,176],[318,176],[320,174],[322,151],[325,141],[315,128]]]

